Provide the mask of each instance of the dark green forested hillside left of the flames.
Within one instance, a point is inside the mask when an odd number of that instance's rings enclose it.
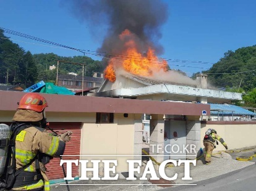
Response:
[[[61,57],[53,53],[32,55],[30,51],[26,52],[18,44],[12,43],[4,36],[4,31],[0,30],[0,83],[20,84],[25,88],[40,80],[55,82],[56,70],[49,70],[49,66],[57,65],[57,60],[85,63],[86,76],[92,76],[94,71],[103,72],[104,70],[100,61],[90,57]],[[60,62],[59,74],[69,72],[81,75],[82,65]]]

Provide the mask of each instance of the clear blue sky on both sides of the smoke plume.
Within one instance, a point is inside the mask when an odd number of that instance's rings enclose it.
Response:
[[[156,6],[158,1],[155,1]],[[160,44],[164,53],[159,57],[178,60],[168,61],[172,69],[182,70],[191,76],[209,69],[223,57],[224,52],[256,44],[254,0],[163,1],[168,6],[168,20],[160,28]],[[0,0],[0,27],[88,51],[100,48],[106,35],[106,26],[92,27],[92,23],[81,21],[71,11],[69,3],[62,0]],[[4,34],[32,54],[83,55],[74,50]],[[102,59],[85,55],[95,60]]]

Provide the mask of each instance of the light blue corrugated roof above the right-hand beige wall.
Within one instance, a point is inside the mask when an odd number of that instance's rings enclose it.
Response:
[[[211,108],[211,115],[255,115],[254,112],[250,112],[242,107],[229,104],[209,104]]]

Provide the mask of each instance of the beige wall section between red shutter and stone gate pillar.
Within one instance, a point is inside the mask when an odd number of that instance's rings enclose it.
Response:
[[[115,114],[112,124],[83,123],[80,155],[114,156],[81,156],[81,159],[117,160],[116,171],[127,171],[126,160],[134,157],[116,155],[134,155],[134,121],[134,115],[124,118],[123,114]]]

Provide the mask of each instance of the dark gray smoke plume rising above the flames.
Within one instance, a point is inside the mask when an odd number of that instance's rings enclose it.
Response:
[[[168,18],[168,6],[163,1],[74,0],[72,3],[74,14],[80,20],[90,22],[92,30],[108,26],[107,31],[101,31],[105,39],[98,51],[121,54],[123,42],[119,40],[119,35],[127,29],[135,34],[140,53],[153,47],[156,55],[163,54],[163,47],[158,43],[160,27]]]

